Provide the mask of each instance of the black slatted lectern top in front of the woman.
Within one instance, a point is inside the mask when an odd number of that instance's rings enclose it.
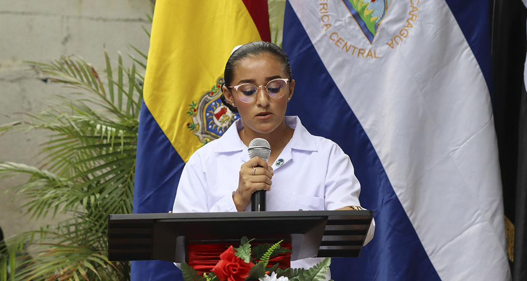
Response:
[[[358,257],[371,210],[201,212],[109,216],[109,260],[186,261],[189,243],[239,245],[240,239],[292,246],[291,260]]]

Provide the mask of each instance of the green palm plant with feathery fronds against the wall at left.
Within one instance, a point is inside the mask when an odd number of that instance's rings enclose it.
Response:
[[[79,56],[62,57],[51,64],[31,63],[44,80],[75,91],[57,96],[59,106],[25,114],[24,120],[0,127],[3,132],[50,132],[51,140],[42,148],[43,167],[0,162],[0,177],[30,176],[13,191],[27,200],[25,207],[32,217],[71,214],[57,225],[7,241],[0,256],[0,280],[129,279],[128,262],[107,258],[108,215],[132,212],[144,80],[136,65],[143,72],[146,63],[132,58],[131,68],[125,69],[119,54],[114,75],[106,51],[104,56],[107,83]],[[28,254],[21,254],[25,245]]]

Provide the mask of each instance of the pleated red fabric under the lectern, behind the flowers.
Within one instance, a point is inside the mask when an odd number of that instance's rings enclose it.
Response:
[[[189,244],[188,264],[197,272],[207,272],[220,261],[220,255],[229,248],[231,244]],[[258,245],[257,243],[252,246]],[[239,245],[236,245],[239,247]],[[281,243],[281,247],[291,249],[291,243]],[[291,266],[291,253],[278,254],[276,257],[269,259],[267,267],[274,266],[278,263],[280,268]]]

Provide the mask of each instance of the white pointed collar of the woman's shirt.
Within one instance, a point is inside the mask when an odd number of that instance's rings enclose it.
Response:
[[[286,116],[285,121],[286,125],[288,125],[289,128],[294,129],[295,132],[281,153],[284,155],[281,156],[285,157],[287,154],[289,154],[290,157],[291,149],[317,151],[315,138],[302,125],[300,118],[297,116]],[[221,138],[218,139],[219,143],[216,148],[214,148],[214,152],[223,153],[243,151],[246,155],[248,155],[247,146],[241,141],[240,135],[238,134],[241,129],[243,129],[243,123],[241,122],[241,119],[238,119],[232,123],[230,128],[227,129]],[[249,160],[249,156],[247,156],[247,160]]]

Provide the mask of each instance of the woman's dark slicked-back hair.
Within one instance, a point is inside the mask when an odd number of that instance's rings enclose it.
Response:
[[[238,62],[248,56],[258,56],[265,53],[275,55],[284,66],[284,72],[287,73],[288,78],[292,79],[291,65],[289,64],[289,59],[287,57],[286,52],[282,51],[282,49],[280,49],[280,47],[276,44],[264,41],[257,41],[242,45],[230,55],[229,60],[227,60],[227,64],[225,65],[225,72],[223,72],[223,79],[225,81],[225,85],[227,87],[231,85],[232,79],[234,79],[234,69]],[[232,106],[225,100],[225,97],[223,95],[221,95],[221,101],[231,111],[238,112],[238,110],[234,106]]]

